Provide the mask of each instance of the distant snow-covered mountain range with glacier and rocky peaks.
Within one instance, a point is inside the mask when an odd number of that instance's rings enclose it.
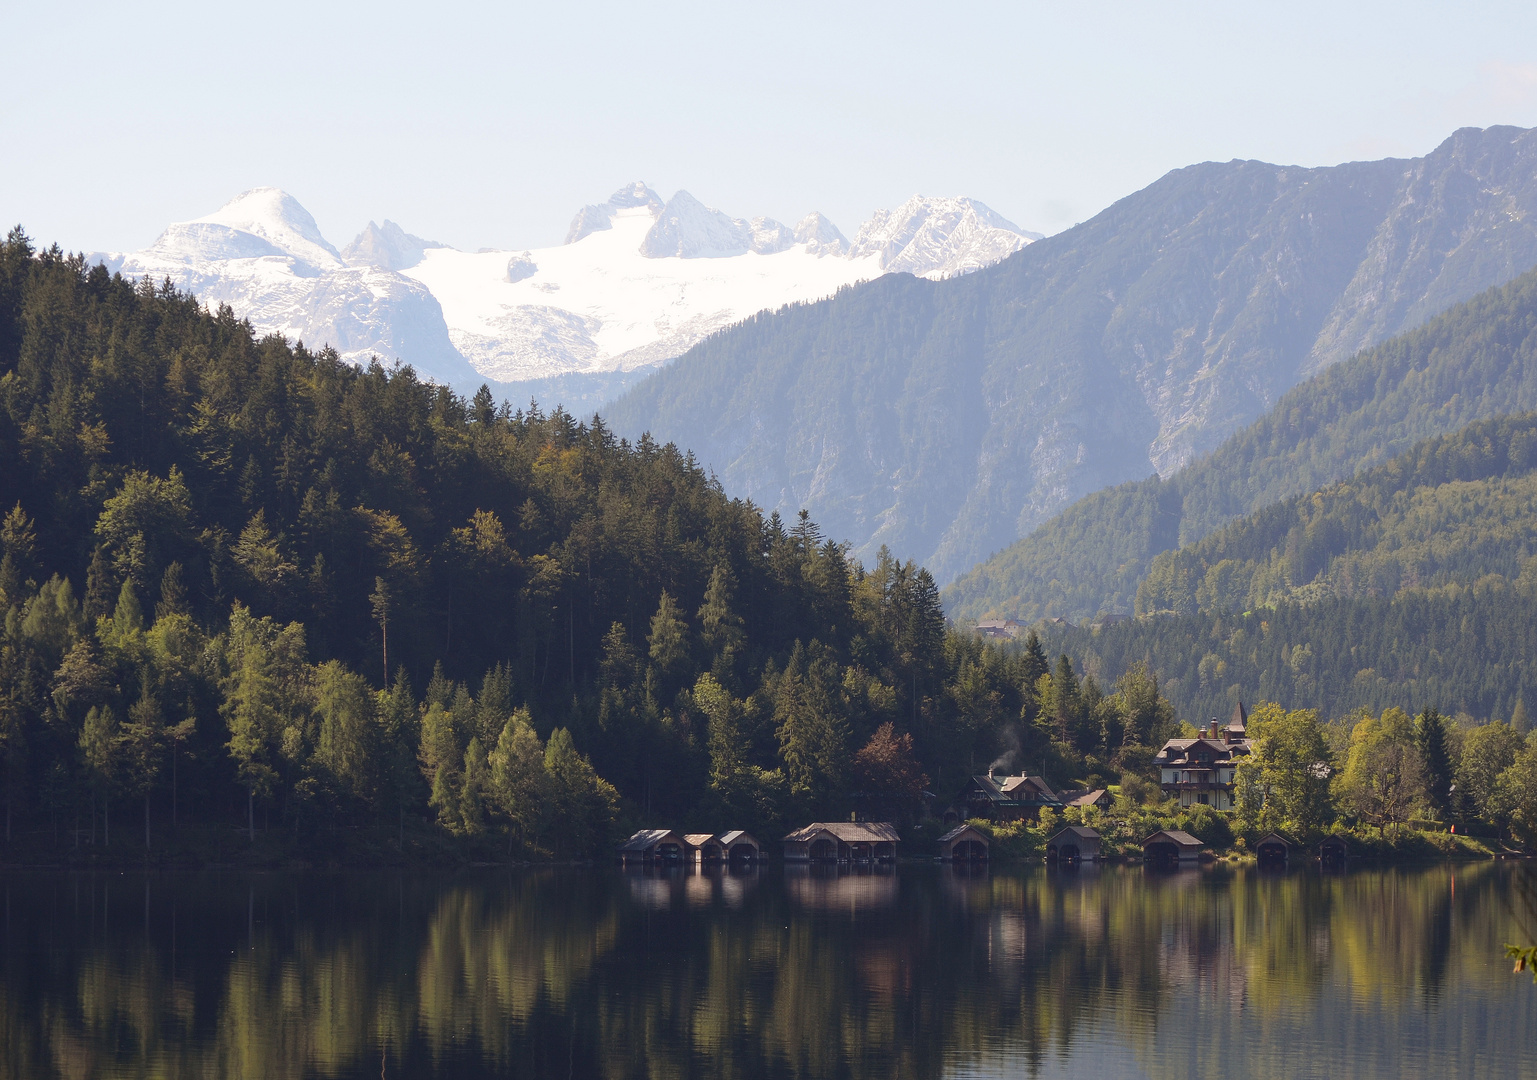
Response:
[[[337,250],[297,200],[257,187],[141,252],[89,258],[352,361],[576,407],[755,312],[884,273],[965,273],[1037,237],[968,198],[913,197],[850,241],[819,214],[792,229],[636,183],[583,207],[559,247],[461,252],[386,220]]]

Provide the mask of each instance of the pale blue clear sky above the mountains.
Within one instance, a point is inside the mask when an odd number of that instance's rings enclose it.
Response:
[[[851,234],[913,192],[1061,230],[1202,160],[1537,124],[1537,5],[0,0],[0,215],[132,249],[246,187],[341,246],[559,243],[629,180]]]

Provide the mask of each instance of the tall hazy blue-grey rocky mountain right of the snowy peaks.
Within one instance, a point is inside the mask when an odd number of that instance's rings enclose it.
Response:
[[[978,273],[718,335],[607,415],[948,581],[1532,264],[1537,132],[1463,129],[1413,161],[1207,163]]]

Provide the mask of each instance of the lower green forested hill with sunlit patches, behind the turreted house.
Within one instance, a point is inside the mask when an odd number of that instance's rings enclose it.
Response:
[[[1048,624],[1182,716],[1274,701],[1509,719],[1537,702],[1537,415],[1479,421],[1159,555],[1134,621]]]

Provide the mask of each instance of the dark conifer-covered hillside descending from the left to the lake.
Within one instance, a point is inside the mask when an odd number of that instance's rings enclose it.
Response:
[[[947,631],[925,571],[672,446],[257,340],[20,230],[0,462],[0,791],[46,851],[120,843],[124,807],[135,845],[407,857],[775,836],[913,813],[1008,748],[1065,782],[1099,740],[1019,730],[1044,658]],[[1133,740],[1171,722],[1145,677],[1061,685]]]

